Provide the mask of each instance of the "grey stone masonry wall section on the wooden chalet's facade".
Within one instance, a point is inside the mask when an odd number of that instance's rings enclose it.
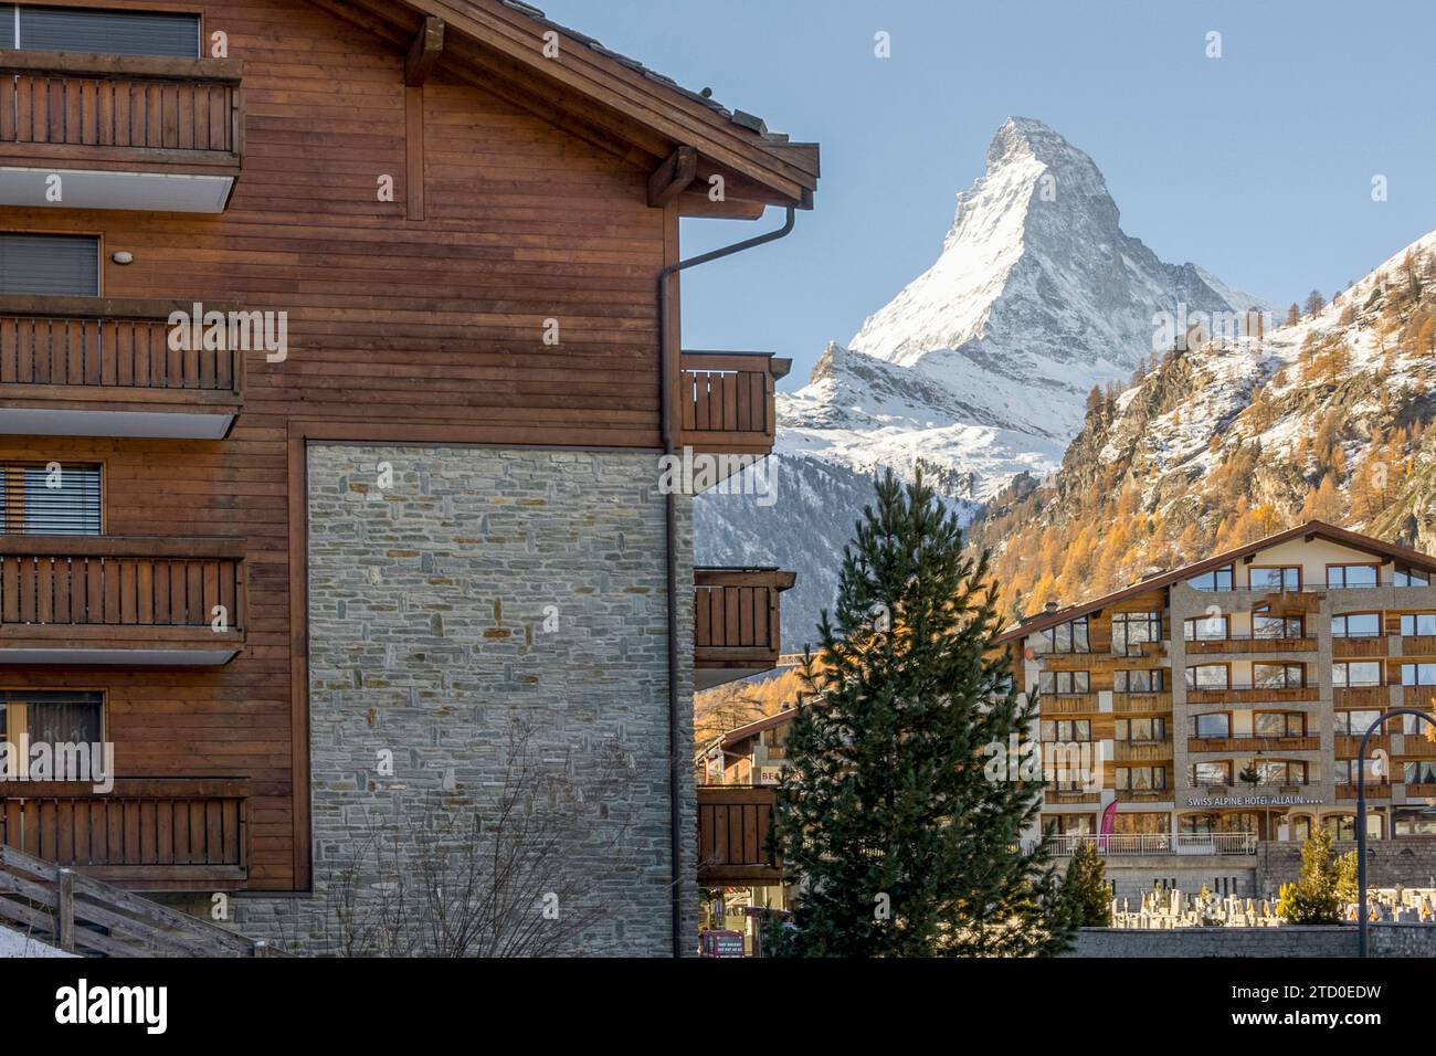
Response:
[[[679,503],[686,746],[692,517]],[[528,853],[537,865],[500,888],[507,921],[561,935],[550,953],[669,954],[656,455],[312,447],[309,560],[313,895],[243,897],[237,925],[303,953],[339,953],[356,931],[372,947],[399,878],[424,905],[422,888],[467,884],[480,843],[520,851],[527,839],[556,851]],[[518,759],[528,777],[514,777]],[[679,787],[692,833],[686,767]],[[516,836],[510,823],[500,839],[497,805],[514,789],[534,832]],[[696,935],[695,852],[685,842],[685,945]]]

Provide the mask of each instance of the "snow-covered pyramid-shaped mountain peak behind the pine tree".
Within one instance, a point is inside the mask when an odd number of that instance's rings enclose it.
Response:
[[[936,263],[780,397],[777,503],[704,496],[695,516],[699,560],[798,572],[787,647],[810,641],[830,603],[877,467],[920,466],[972,514],[1015,477],[1060,466],[1088,391],[1147,359],[1159,316],[1271,309],[1163,263],[1119,220],[1090,157],[1012,118],[958,195]]]

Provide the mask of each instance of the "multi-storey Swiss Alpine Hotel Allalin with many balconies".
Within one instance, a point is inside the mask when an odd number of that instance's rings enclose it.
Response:
[[[1311,522],[1008,631],[1018,688],[1040,694],[1058,853],[1110,833],[1119,894],[1259,894],[1229,856],[1315,826],[1354,839],[1358,766],[1371,839],[1436,835],[1429,724],[1389,720],[1358,759],[1381,711],[1432,710],[1433,573],[1436,557]],[[1061,753],[1091,773],[1053,773]]]

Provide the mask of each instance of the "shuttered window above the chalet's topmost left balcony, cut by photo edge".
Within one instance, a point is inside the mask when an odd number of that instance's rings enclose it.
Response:
[[[0,46],[198,59],[200,16],[3,4]]]

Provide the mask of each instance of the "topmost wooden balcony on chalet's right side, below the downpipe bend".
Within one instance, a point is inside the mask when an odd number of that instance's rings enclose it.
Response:
[[[678,407],[684,447],[699,454],[771,454],[775,386],[791,365],[764,352],[684,352]]]

